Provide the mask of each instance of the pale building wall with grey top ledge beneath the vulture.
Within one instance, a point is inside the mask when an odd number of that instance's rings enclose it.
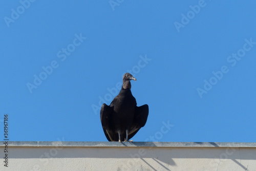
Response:
[[[3,143],[0,170],[256,170],[256,143]]]

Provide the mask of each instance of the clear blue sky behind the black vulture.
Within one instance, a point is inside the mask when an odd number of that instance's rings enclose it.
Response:
[[[11,141],[106,141],[98,109],[130,70],[150,107],[134,141],[255,142],[255,6],[2,1],[2,132],[8,114]]]

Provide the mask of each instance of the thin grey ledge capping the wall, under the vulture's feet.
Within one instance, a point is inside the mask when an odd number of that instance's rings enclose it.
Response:
[[[0,146],[5,141],[0,141]],[[8,141],[8,146],[27,147],[256,147],[256,142],[87,142],[87,141]]]

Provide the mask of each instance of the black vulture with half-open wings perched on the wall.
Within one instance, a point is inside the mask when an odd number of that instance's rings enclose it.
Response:
[[[148,105],[137,106],[130,80],[136,81],[136,78],[125,73],[119,94],[110,105],[103,103],[101,106],[100,121],[109,141],[129,141],[146,124]]]

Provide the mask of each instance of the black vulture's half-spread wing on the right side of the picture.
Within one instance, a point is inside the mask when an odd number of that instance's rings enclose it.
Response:
[[[133,120],[133,125],[128,135],[128,139],[131,139],[140,129],[146,124],[148,116],[148,105],[144,104],[142,106],[135,107],[135,116]]]

